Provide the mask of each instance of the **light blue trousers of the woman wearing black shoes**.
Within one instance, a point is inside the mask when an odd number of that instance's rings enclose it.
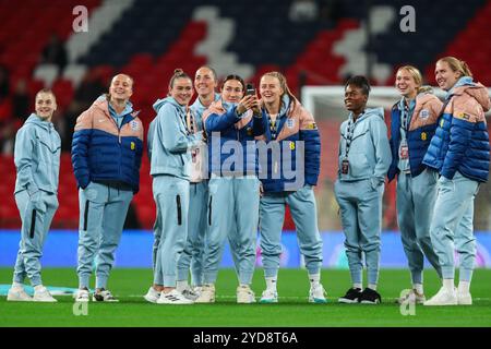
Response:
[[[384,184],[373,188],[370,179],[339,181],[334,184],[339,204],[345,248],[354,284],[362,282],[362,253],[367,264],[368,284],[376,285],[380,268],[380,234]]]

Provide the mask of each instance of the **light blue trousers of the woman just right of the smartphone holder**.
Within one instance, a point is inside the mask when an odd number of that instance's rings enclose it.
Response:
[[[311,185],[296,192],[265,193],[260,205],[261,255],[265,277],[277,277],[282,254],[282,231],[286,205],[290,207],[300,252],[309,275],[322,267],[322,238],[318,228],[318,208]]]

